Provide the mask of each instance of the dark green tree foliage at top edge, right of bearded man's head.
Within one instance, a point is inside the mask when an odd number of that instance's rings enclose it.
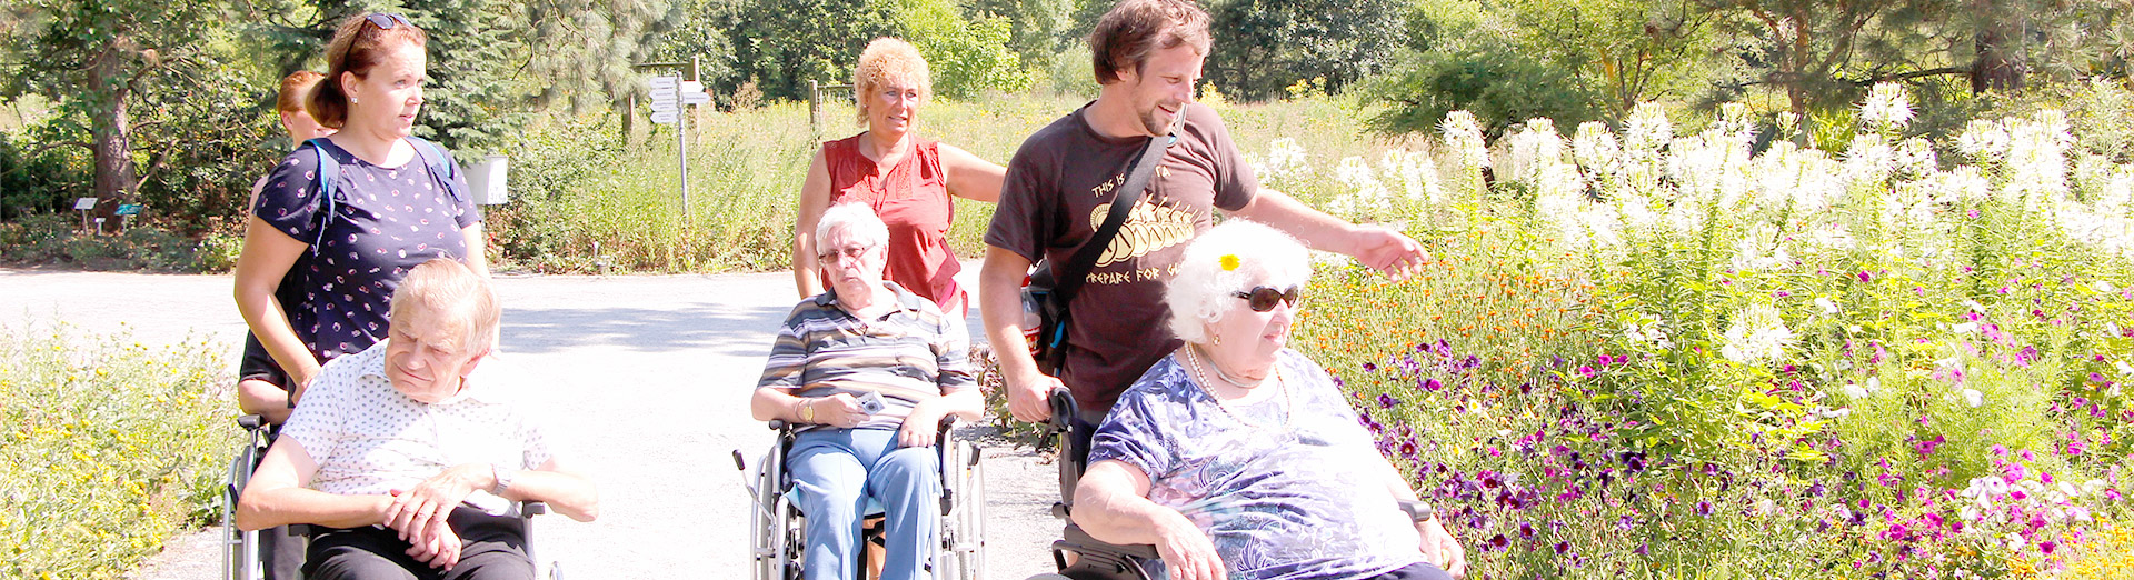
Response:
[[[1297,81],[1327,90],[1385,68],[1400,45],[1402,0],[1212,2],[1206,79],[1242,100],[1283,98]]]

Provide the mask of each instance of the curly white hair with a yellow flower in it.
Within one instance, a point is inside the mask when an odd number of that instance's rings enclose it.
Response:
[[[1246,220],[1208,228],[1178,260],[1178,273],[1163,290],[1172,307],[1172,335],[1208,343],[1208,324],[1223,320],[1236,296],[1257,284],[1304,286],[1312,279],[1312,256],[1283,230]]]

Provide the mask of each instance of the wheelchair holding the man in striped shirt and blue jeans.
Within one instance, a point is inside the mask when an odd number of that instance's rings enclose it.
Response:
[[[986,578],[986,471],[980,463],[982,448],[971,441],[956,441],[954,418],[941,420],[941,437],[935,439],[935,454],[941,461],[941,529],[935,531],[939,550],[933,559],[933,578],[984,580]],[[749,510],[751,578],[755,580],[798,580],[807,567],[807,514],[800,512],[792,490],[792,473],[785,471],[785,454],[794,446],[798,431],[783,420],[770,420],[777,444],[764,452],[749,469],[740,450],[734,450],[734,467],[743,473],[753,510]],[[873,501],[869,501],[873,503]],[[860,539],[864,546],[854,569],[866,576],[869,554],[883,546],[886,529],[879,505],[869,505]],[[862,580],[862,578],[854,578]]]

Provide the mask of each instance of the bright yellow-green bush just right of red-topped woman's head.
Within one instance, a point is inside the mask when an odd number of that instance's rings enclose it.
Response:
[[[1035,72],[1007,47],[1009,21],[1003,17],[965,21],[947,0],[898,0],[896,28],[926,55],[939,96],[1020,92],[1035,81]]]

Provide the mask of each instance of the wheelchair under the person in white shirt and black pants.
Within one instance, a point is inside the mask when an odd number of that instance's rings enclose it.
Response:
[[[267,446],[273,444],[273,424],[267,424],[260,416],[239,416],[237,426],[245,431],[243,444],[237,448],[237,456],[230,458],[228,484],[222,486],[222,495],[216,503],[222,510],[222,578],[224,580],[260,580],[267,578],[265,550],[260,550],[260,531],[237,529],[237,497],[245,493],[245,484],[252,482],[252,471],[258,469],[260,458],[267,456]],[[534,578],[542,578],[540,557],[534,554],[534,516],[548,514],[548,503],[521,501],[519,503],[519,525],[525,529],[527,561],[534,563]],[[297,537],[307,537],[312,527],[292,525],[290,533]],[[301,571],[297,574],[303,576]],[[551,580],[563,578],[561,563],[548,563]]]

